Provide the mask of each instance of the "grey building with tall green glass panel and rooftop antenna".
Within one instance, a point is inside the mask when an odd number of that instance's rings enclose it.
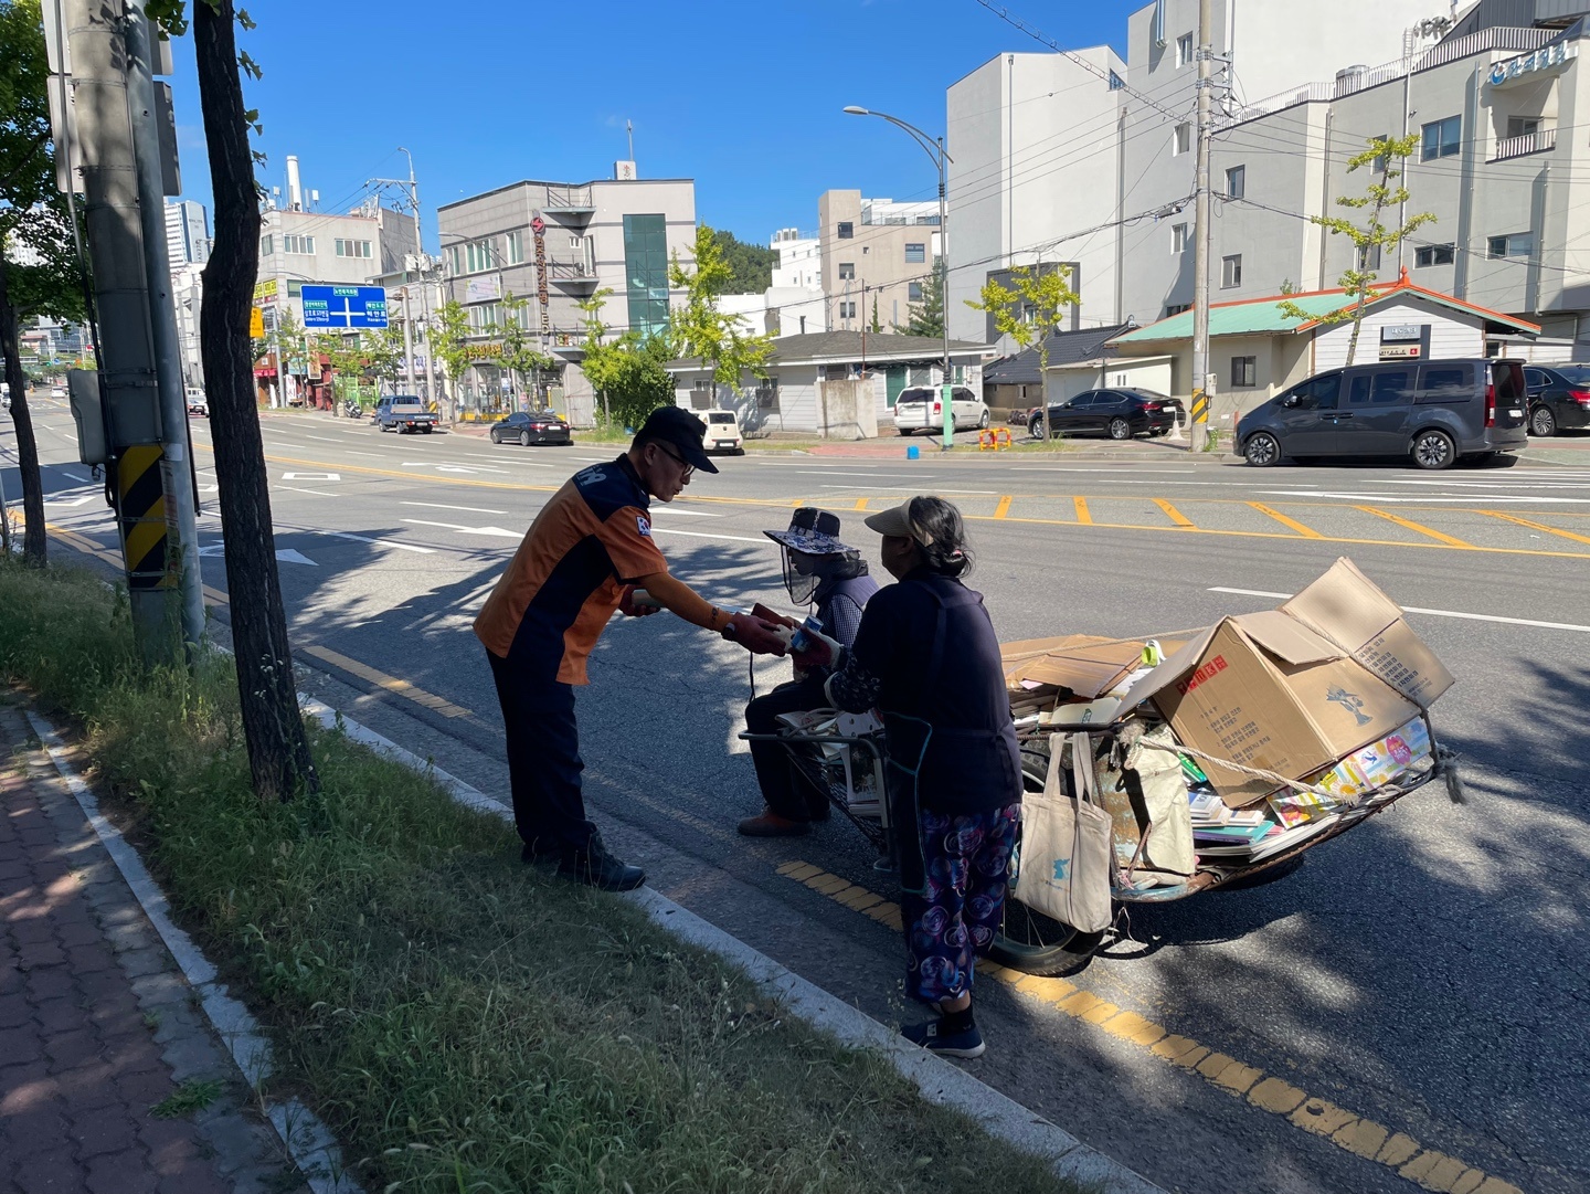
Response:
[[[630,165],[628,162],[623,165]],[[623,170],[633,175],[633,169]],[[460,410],[506,410],[515,382],[496,364],[502,321],[526,321],[558,361],[566,413],[595,423],[596,396],[579,369],[587,339],[580,300],[611,291],[601,310],[609,339],[660,334],[682,300],[669,262],[695,262],[695,183],[688,178],[520,181],[437,208],[447,296],[463,304],[479,359],[456,378]],[[507,299],[529,299],[515,312]]]

